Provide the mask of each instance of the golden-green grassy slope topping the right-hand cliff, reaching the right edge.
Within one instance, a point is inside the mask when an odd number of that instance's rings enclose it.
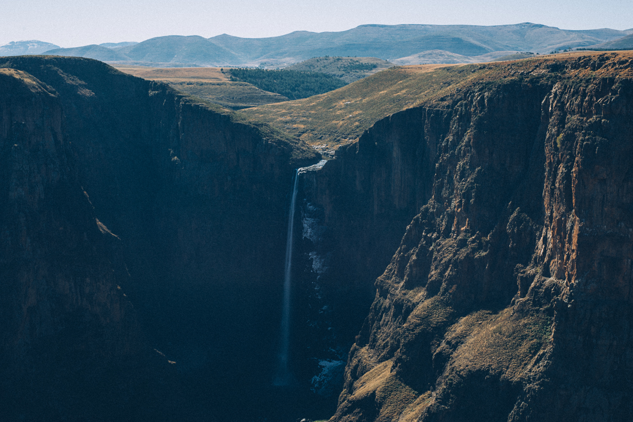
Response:
[[[620,53],[620,68],[630,66],[630,53]],[[313,146],[337,147],[353,142],[386,116],[418,105],[453,101],[474,84],[542,83],[564,75],[568,79],[610,75],[621,69],[603,66],[616,53],[563,53],[521,61],[479,65],[396,66],[353,82],[342,89],[296,101],[244,110]],[[595,70],[574,69],[572,62],[595,62]],[[596,67],[597,66],[597,67]],[[530,82],[532,81],[532,82]]]

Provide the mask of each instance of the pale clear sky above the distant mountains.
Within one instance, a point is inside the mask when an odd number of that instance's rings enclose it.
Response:
[[[364,23],[633,28],[632,0],[0,0],[0,45],[37,39],[62,47],[160,35],[273,37]]]

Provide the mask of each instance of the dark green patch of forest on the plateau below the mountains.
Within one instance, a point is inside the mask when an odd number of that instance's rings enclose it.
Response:
[[[230,80],[234,82],[248,82],[291,100],[324,94],[347,85],[341,78],[318,72],[244,68],[230,69],[229,72]]]

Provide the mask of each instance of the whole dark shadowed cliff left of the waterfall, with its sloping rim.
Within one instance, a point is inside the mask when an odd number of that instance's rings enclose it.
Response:
[[[175,377],[270,377],[286,195],[317,154],[94,60],[0,67],[3,411],[208,418],[225,397]]]

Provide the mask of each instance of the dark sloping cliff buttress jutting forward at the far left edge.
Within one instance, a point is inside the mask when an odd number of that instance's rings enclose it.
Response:
[[[0,92],[0,415],[168,418],[168,363],[120,289],[120,240],[78,183],[59,94],[13,69]]]

